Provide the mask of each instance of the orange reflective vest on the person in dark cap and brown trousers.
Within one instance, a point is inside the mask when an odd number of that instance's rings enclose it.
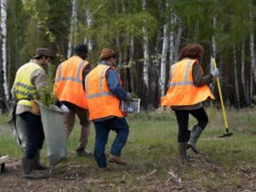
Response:
[[[88,64],[88,61],[73,56],[59,65],[54,85],[59,101],[69,101],[80,108],[88,109],[82,85],[82,71]]]

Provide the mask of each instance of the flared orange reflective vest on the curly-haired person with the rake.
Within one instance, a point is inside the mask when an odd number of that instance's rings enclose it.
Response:
[[[193,105],[208,98],[215,99],[208,85],[197,87],[194,84],[192,69],[195,63],[195,59],[183,59],[172,66],[170,88],[162,97],[161,105]]]

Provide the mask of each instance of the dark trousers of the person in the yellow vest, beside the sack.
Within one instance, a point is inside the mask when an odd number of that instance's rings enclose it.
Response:
[[[33,159],[44,144],[45,134],[41,116],[32,112],[23,112],[20,117],[26,122],[26,155],[27,159]]]

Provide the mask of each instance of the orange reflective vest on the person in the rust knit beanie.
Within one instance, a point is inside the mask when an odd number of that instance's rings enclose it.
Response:
[[[121,100],[108,88],[106,72],[111,66],[99,64],[85,78],[85,90],[90,120],[108,116],[124,117]]]

